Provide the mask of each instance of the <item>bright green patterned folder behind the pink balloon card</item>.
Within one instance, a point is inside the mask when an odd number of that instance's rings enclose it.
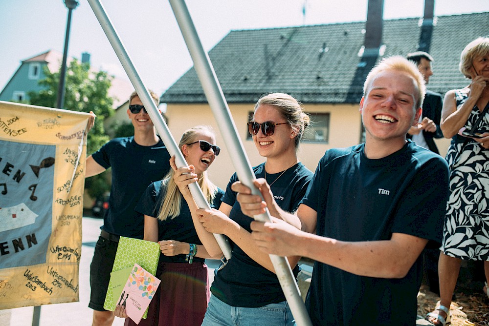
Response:
[[[133,267],[134,264],[138,264],[146,269],[149,273],[156,275],[159,254],[159,244],[156,242],[120,237],[112,272]],[[113,288],[114,286],[112,285],[111,277],[104,303],[104,309],[110,311],[115,310]],[[117,294],[117,296],[119,295],[120,293]],[[148,310],[146,310],[144,313],[143,318],[146,318],[147,313]]]

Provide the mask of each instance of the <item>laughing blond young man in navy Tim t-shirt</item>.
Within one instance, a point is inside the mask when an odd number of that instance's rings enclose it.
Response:
[[[374,67],[360,101],[365,143],[326,152],[295,221],[264,180],[256,185],[265,202],[233,185],[246,215],[267,206],[300,225],[277,220],[251,228],[267,253],[316,260],[306,299],[313,325],[415,324],[420,254],[428,240],[441,240],[448,189],[445,160],[405,139],[424,92],[412,62],[396,56]]]

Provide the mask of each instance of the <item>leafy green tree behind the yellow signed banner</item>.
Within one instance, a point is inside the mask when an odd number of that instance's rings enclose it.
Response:
[[[58,95],[60,72],[51,73],[44,67],[45,79],[39,81],[44,90],[29,92],[30,104],[54,107]],[[105,71],[92,71],[90,64],[74,59],[67,65],[65,79],[64,109],[78,112],[93,111],[97,115],[93,128],[88,134],[87,153],[93,153],[109,141],[103,121],[113,114],[113,100],[109,96],[112,76]],[[99,197],[109,191],[107,173],[91,177],[85,181],[85,189],[92,197]]]

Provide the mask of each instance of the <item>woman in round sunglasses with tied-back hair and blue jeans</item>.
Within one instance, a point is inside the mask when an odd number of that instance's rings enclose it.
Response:
[[[287,94],[268,94],[255,105],[248,131],[266,162],[253,168],[257,178],[267,179],[280,207],[294,212],[311,181],[312,172],[297,158],[297,148],[309,124],[301,104]],[[176,177],[180,189],[195,175]],[[212,233],[226,235],[232,243],[232,258],[219,268],[211,287],[212,296],[202,325],[293,325],[294,318],[285,300],[267,254],[251,239],[251,218],[245,216],[231,184],[231,177],[219,210],[197,209],[192,197],[185,199],[196,209],[194,223],[200,223],[206,234],[200,236],[207,252],[222,255]],[[196,225],[197,227],[197,225]],[[199,228],[198,228],[199,231]],[[297,276],[300,257],[289,257]]]

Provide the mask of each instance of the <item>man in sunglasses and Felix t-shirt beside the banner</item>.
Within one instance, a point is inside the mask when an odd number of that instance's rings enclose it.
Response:
[[[150,93],[158,105],[158,96]],[[143,239],[144,216],[136,213],[134,207],[146,187],[163,179],[170,169],[170,154],[156,136],[153,122],[136,92],[129,98],[127,114],[134,126],[134,136],[112,139],[87,158],[86,178],[112,168],[109,209],[90,265],[89,307],[93,309],[94,326],[112,325],[114,319],[112,311],[104,309],[104,302],[119,237]]]

